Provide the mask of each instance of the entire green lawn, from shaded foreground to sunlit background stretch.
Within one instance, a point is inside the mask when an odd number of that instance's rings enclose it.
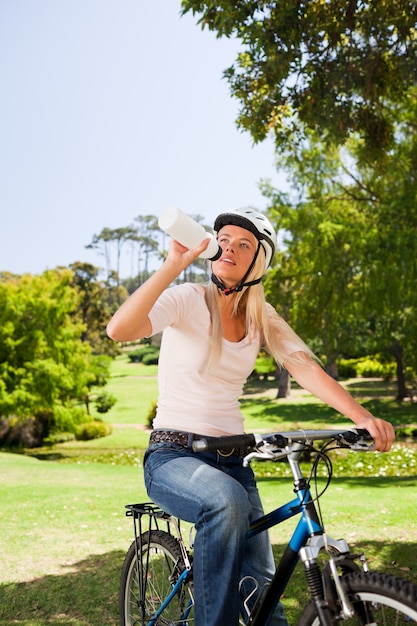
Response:
[[[109,391],[118,402],[104,415],[114,425],[109,437],[31,451],[38,458],[0,453],[0,626],[118,624],[119,574],[132,540],[124,505],[147,500],[141,460],[155,375],[156,368],[126,357],[114,363]],[[347,385],[395,425],[417,423],[417,405],[393,401],[392,386],[360,380]],[[274,381],[251,381],[246,391],[248,431],[347,423],[296,387],[278,401]],[[416,455],[415,445],[404,444],[386,455],[332,453],[335,478],[321,507],[330,535],[365,550],[373,569],[417,583]],[[257,463],[254,469],[266,509],[292,497],[286,464]],[[292,528],[290,520],[272,530],[277,555]],[[298,566],[284,598],[291,624],[304,600]]]

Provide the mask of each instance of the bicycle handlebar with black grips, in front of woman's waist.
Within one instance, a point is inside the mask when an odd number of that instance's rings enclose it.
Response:
[[[373,439],[367,430],[350,428],[348,430],[294,430],[268,434],[228,435],[208,437],[193,441],[194,452],[230,451],[234,448],[256,448],[264,445],[285,448],[293,442],[311,443],[317,440],[333,439],[341,448],[352,450],[371,450]]]

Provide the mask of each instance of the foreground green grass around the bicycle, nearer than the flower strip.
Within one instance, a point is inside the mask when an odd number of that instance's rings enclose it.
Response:
[[[12,454],[0,462],[7,476],[0,488],[1,626],[116,626],[119,573],[132,538],[124,504],[146,499],[141,468]],[[328,532],[365,550],[374,569],[417,583],[416,486],[416,477],[334,479],[321,500]],[[259,488],[266,508],[292,496],[285,478],[260,478]],[[277,556],[292,528],[288,521],[273,529]],[[284,598],[289,616],[295,619],[305,598],[297,567]]]

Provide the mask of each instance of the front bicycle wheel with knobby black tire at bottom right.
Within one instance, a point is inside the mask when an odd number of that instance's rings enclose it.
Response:
[[[380,572],[350,572],[341,577],[355,615],[335,624],[343,626],[403,626],[417,623],[417,587],[407,580]],[[297,626],[320,626],[313,600]]]

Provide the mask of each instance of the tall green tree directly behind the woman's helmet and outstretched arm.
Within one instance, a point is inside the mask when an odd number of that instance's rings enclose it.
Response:
[[[306,147],[298,161],[290,158],[298,200],[291,203],[270,193],[283,249],[266,292],[299,334],[325,355],[327,370],[337,378],[338,358],[357,350],[366,332],[357,310],[357,277],[367,230],[360,207],[337,194],[331,179],[337,161],[321,153],[319,145]]]

